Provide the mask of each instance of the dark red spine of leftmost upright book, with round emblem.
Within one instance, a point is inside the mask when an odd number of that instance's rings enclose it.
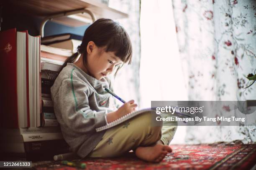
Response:
[[[0,127],[18,128],[16,28],[0,32]]]

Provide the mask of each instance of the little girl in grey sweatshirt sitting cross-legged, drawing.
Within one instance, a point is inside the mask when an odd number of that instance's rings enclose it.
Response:
[[[113,90],[108,75],[116,74],[124,63],[130,64],[131,58],[131,40],[124,28],[113,20],[99,19],[84,32],[77,53],[67,59],[51,87],[63,137],[80,157],[110,158],[133,150],[142,160],[160,162],[172,152],[168,145],[176,126],[151,127],[151,113],[108,130],[95,130],[137,107],[130,100],[117,109],[104,90]]]

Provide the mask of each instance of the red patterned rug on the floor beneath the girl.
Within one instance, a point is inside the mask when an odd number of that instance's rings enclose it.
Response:
[[[169,153],[161,163],[147,163],[132,153],[122,158],[73,160],[87,164],[86,170],[145,169],[145,170],[250,170],[256,165],[256,144],[203,144],[171,145]],[[39,165],[41,164],[41,165]],[[36,170],[75,170],[60,162],[33,163]]]

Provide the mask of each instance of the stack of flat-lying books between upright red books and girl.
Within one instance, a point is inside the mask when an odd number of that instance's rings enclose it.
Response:
[[[78,40],[77,40],[78,39]],[[61,34],[41,40],[41,127],[58,126],[51,100],[51,86],[65,60],[77,51],[82,36]]]

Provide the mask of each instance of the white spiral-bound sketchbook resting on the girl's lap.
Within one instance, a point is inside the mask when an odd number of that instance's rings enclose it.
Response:
[[[129,114],[123,116],[123,117],[120,117],[119,119],[117,119],[117,120],[115,120],[115,121],[113,121],[113,122],[107,123],[107,125],[105,125],[105,126],[101,126],[101,127],[99,127],[99,128],[96,128],[96,132],[100,132],[100,131],[102,131],[102,130],[106,130],[106,129],[112,128],[112,127],[114,127],[114,126],[116,126],[116,125],[119,125],[119,124],[122,123],[122,122],[125,122],[126,120],[131,119],[132,117],[135,117],[136,115],[139,115],[139,114],[141,114],[141,113],[148,112],[148,111],[149,111],[149,112],[154,112],[154,114],[156,114],[155,111],[154,111],[154,108],[146,108],[146,109],[136,110],[136,111],[133,111],[133,112],[131,112],[131,113],[129,113]],[[179,112],[175,112],[174,115],[175,115],[175,116],[186,116],[186,117],[190,117],[190,116],[188,116],[188,115],[184,115],[184,114],[179,113]]]

